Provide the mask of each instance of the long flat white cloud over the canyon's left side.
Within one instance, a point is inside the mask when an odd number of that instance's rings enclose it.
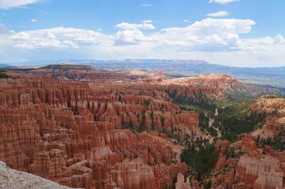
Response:
[[[79,48],[81,45],[111,45],[113,36],[78,28],[21,31],[9,37],[16,48]]]

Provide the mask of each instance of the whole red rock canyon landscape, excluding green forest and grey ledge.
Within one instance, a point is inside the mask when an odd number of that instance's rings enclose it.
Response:
[[[100,71],[83,65],[9,70],[0,80],[0,161],[71,188],[200,188],[180,159],[207,140],[200,114],[176,103],[230,102],[239,95],[282,95],[229,75],[174,78],[163,72]],[[253,99],[264,121],[233,143],[217,139],[213,188],[284,188],[285,153],[274,139],[285,123],[284,98]],[[233,149],[234,155],[227,157]]]

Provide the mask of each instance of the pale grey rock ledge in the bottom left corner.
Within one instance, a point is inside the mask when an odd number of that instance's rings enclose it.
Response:
[[[0,161],[0,188],[6,189],[68,189],[68,187],[39,176],[16,171]]]

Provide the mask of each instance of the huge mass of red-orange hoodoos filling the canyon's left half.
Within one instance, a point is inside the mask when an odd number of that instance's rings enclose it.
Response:
[[[51,79],[6,82],[0,160],[13,168],[76,188],[167,188],[187,172],[185,163],[172,163],[177,157],[165,136],[122,129],[145,123],[199,130],[198,114],[155,99],[163,93],[130,95],[118,86]]]

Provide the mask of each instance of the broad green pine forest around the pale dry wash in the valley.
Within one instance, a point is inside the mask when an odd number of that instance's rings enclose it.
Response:
[[[180,106],[180,109],[199,113],[200,129],[207,131],[214,136],[214,139],[217,139],[217,129],[219,129],[222,139],[235,141],[239,134],[252,131],[265,117],[262,113],[249,114],[250,98],[244,95],[231,96],[229,101],[211,100],[204,97],[202,93],[192,97],[182,97],[172,92],[170,97]],[[274,95],[268,95],[268,97],[272,98]],[[218,115],[215,115],[216,109]],[[212,126],[209,126],[210,119],[214,121]]]

